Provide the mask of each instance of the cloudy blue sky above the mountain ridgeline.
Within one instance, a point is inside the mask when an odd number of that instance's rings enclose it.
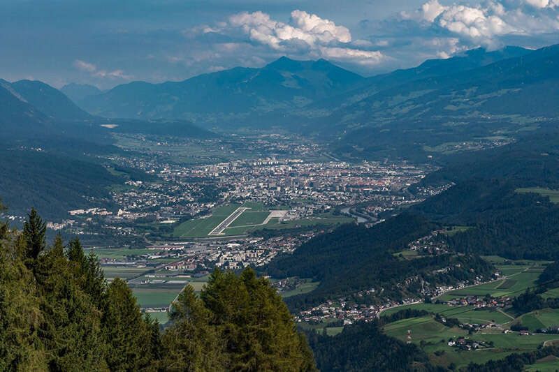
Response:
[[[369,76],[559,43],[559,0],[0,0],[0,78],[109,89],[287,56]]]

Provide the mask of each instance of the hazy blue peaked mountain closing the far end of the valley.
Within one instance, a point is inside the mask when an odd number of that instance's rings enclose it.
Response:
[[[237,67],[182,82],[131,82],[78,103],[104,117],[184,119],[201,114],[292,110],[363,80],[324,59],[282,57],[263,68]]]

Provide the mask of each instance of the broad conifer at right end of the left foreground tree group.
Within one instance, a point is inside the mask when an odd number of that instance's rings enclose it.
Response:
[[[150,365],[151,329],[144,322],[136,298],[122,279],[115,278],[107,289],[103,333],[108,345],[107,364],[111,371],[139,371]]]

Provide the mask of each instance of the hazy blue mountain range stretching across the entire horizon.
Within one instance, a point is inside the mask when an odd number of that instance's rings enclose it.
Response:
[[[41,82],[1,80],[0,122],[20,132],[31,122],[120,122],[115,131],[187,136],[208,135],[201,128],[279,127],[320,137],[338,158],[423,162],[555,125],[558,62],[559,45],[552,45],[479,48],[373,77],[324,59],[282,57],[262,68],[108,91],[69,84],[64,94]]]

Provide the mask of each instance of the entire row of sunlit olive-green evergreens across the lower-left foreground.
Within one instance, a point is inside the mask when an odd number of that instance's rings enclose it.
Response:
[[[265,278],[215,271],[187,286],[170,325],[144,317],[126,283],[107,283],[80,241],[45,241],[31,211],[0,224],[0,371],[314,371],[305,337]]]

